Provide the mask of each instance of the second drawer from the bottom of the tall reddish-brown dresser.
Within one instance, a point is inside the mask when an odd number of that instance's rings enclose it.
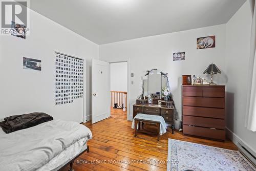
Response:
[[[225,130],[224,119],[203,118],[203,117],[183,115],[183,124]]]

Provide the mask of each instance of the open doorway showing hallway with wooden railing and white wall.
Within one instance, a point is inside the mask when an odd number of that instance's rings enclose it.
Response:
[[[127,61],[110,63],[111,117],[127,118]]]

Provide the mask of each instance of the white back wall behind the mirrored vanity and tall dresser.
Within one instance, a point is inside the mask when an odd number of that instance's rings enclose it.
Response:
[[[216,35],[216,48],[197,50],[197,37]],[[214,80],[225,83],[225,48],[226,26],[218,25],[194,30],[168,33],[157,36],[143,37],[125,40],[99,46],[99,58],[109,62],[130,62],[130,77],[134,84],[130,86],[130,116],[132,119],[132,105],[141,94],[141,77],[148,69],[159,69],[168,73],[170,86],[174,95],[174,101],[181,115],[181,84],[182,75],[195,74],[205,77],[203,71],[210,62],[223,71],[216,75]],[[173,61],[174,52],[185,52],[185,60]]]

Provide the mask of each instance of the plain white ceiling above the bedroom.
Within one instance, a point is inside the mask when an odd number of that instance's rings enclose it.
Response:
[[[246,0],[30,0],[98,45],[227,23]]]

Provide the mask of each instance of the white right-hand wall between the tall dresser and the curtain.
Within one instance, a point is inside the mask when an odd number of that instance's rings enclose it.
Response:
[[[256,153],[256,133],[245,127],[252,12],[250,1],[226,25],[227,127]]]

